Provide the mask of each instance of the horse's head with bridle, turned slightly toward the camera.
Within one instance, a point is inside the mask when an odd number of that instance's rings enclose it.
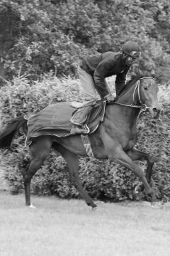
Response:
[[[146,105],[146,109],[149,110],[152,117],[158,117],[161,111],[159,105],[157,92],[158,86],[154,82],[152,77],[140,78],[137,85],[138,101],[140,104]]]

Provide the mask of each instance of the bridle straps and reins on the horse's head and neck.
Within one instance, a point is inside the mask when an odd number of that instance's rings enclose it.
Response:
[[[137,80],[137,84],[136,84],[135,90],[133,92],[133,104],[125,105],[125,104],[120,104],[120,103],[116,103],[116,102],[114,102],[113,104],[118,104],[120,106],[125,106],[125,107],[136,107],[136,108],[139,108],[140,110],[143,110],[143,111],[146,111],[147,109],[149,109],[150,107],[147,107],[147,105],[142,102],[141,97],[140,97],[140,80],[146,79],[146,78],[152,78],[152,77],[145,77],[145,78],[140,78],[139,80]],[[154,78],[152,78],[152,79],[154,79]],[[136,90],[137,90],[137,97],[140,100],[140,105],[137,105],[137,102],[135,102],[135,92],[136,92]]]

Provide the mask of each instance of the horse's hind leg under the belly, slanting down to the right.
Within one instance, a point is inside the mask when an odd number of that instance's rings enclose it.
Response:
[[[92,208],[96,207],[96,204],[92,201],[89,194],[84,190],[84,188],[81,186],[80,180],[79,180],[79,158],[77,154],[72,153],[71,151],[65,149],[61,145],[53,146],[54,149],[56,149],[60,154],[63,156],[65,161],[67,161],[68,169],[69,169],[69,176],[74,183],[75,188],[79,191],[82,198],[84,198],[84,201],[88,206],[91,206]]]

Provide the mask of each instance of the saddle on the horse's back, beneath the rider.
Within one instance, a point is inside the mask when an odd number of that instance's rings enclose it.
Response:
[[[71,106],[73,107],[73,105]],[[98,100],[93,105],[86,104],[77,108],[77,110],[72,113],[72,118],[70,119],[73,124],[71,133],[93,133],[97,129],[98,124],[103,122],[105,109],[106,100]],[[86,127],[87,129],[84,130],[82,127]]]

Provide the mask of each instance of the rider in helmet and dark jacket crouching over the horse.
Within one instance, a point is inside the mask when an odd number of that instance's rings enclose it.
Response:
[[[71,119],[75,132],[89,132],[89,129],[83,123],[84,117],[91,105],[95,104],[97,93],[103,100],[114,100],[113,95],[111,95],[108,89],[106,78],[116,75],[115,92],[117,96],[125,86],[126,75],[130,66],[140,56],[140,48],[136,42],[128,41],[123,44],[121,50],[121,53],[108,51],[106,53],[88,55],[81,60],[78,66],[78,73],[81,86],[85,92],[85,100],[83,103],[74,102],[74,107],[83,107],[79,115],[75,115]]]

